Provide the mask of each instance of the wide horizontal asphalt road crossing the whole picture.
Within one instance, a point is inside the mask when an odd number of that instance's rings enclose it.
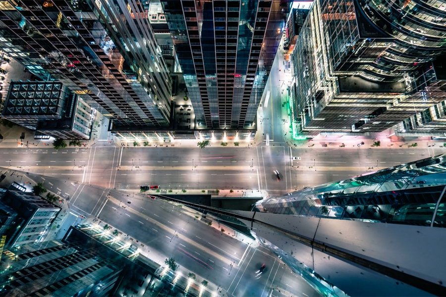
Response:
[[[2,167],[105,188],[260,189],[280,195],[444,153],[444,148],[1,148]],[[300,161],[292,161],[300,156]],[[373,167],[373,168],[372,168]],[[280,173],[277,180],[274,170]]]

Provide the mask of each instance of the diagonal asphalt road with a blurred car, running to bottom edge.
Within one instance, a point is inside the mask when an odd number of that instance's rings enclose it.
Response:
[[[98,217],[137,239],[151,252],[172,256],[183,273],[191,271],[232,296],[318,296],[271,251],[252,247],[196,218],[197,213],[161,199],[28,174],[68,198],[70,212]],[[135,243],[135,242],[133,242]],[[138,244],[136,244],[138,245]],[[262,263],[265,271],[256,277]],[[281,293],[279,293],[279,291]]]

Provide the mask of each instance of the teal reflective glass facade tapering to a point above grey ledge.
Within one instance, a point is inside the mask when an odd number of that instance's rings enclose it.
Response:
[[[446,227],[446,155],[260,200],[289,215]]]

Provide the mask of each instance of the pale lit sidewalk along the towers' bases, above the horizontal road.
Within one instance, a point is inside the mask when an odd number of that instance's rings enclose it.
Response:
[[[283,90],[282,90],[283,91]],[[284,90],[284,92],[287,92]],[[282,99],[282,113],[287,112],[286,100]],[[341,135],[318,135],[313,139],[294,140],[292,133],[289,132],[289,117],[285,116],[285,121],[279,122],[282,126],[282,132],[286,145],[294,148],[353,148],[358,144],[364,142],[359,148],[430,148],[430,147],[444,147],[446,139],[432,140],[431,137],[398,137],[391,129],[387,129],[381,133],[373,133],[371,136],[341,136]],[[283,120],[283,119],[282,119]],[[108,119],[99,115],[95,120],[93,127],[93,134],[91,140],[82,140],[83,147],[91,148],[95,146],[110,146],[110,147],[127,147],[133,148],[133,142],[125,142],[111,136],[107,131]],[[99,130],[97,130],[99,129]],[[24,133],[24,139],[20,139]],[[53,139],[50,140],[35,140],[34,131],[26,128],[13,125],[12,127],[4,126],[0,122],[0,134],[3,139],[0,139],[0,148],[53,148]],[[235,146],[235,141],[227,141],[226,148],[252,148],[257,146],[264,146],[264,136],[262,135],[262,126],[259,125],[259,130],[256,136],[249,141],[246,139],[238,140],[238,146]],[[374,147],[374,142],[379,141],[380,146]],[[198,148],[198,140],[174,140],[171,143],[164,143],[161,141],[150,141],[147,148]],[[66,148],[70,147],[69,141],[66,141]],[[222,141],[211,141],[211,148],[222,147]],[[144,142],[139,142],[137,148],[144,147]],[[416,146],[415,146],[416,144]],[[445,147],[446,148],[446,147]],[[206,148],[204,148],[206,149]]]

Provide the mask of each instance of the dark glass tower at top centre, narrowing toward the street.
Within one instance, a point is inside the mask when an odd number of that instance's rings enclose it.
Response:
[[[199,127],[251,129],[287,0],[161,0]]]

